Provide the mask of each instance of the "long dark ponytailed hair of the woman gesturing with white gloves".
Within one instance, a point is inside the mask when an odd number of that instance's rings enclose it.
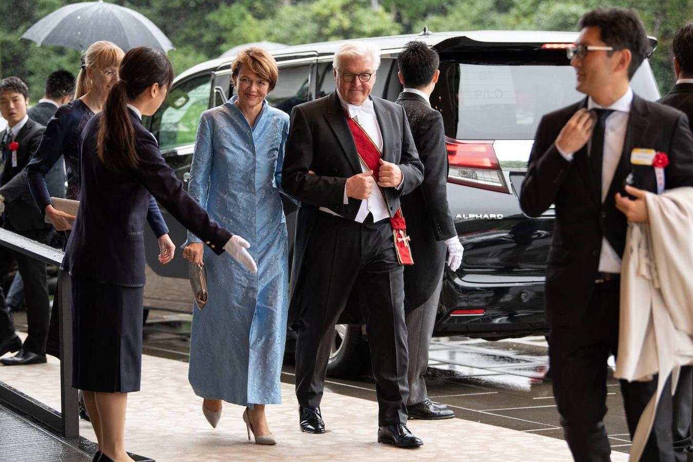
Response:
[[[139,157],[134,145],[134,127],[128,103],[136,100],[155,83],[170,88],[173,66],[164,53],[139,46],[125,53],[119,71],[121,80],[109,91],[98,127],[98,158],[112,171],[137,168]]]

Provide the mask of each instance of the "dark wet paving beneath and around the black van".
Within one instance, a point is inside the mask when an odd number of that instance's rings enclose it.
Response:
[[[15,317],[21,328],[21,314]],[[191,316],[152,310],[144,330],[143,353],[188,361]],[[473,422],[563,439],[548,370],[543,337],[484,341],[465,337],[434,339],[426,377],[428,394],[457,416]],[[295,382],[290,361],[282,381]],[[326,390],[375,401],[372,375],[328,377]],[[630,437],[617,380],[608,380],[604,419],[612,449],[628,452]],[[330,416],[324,418],[329,424]]]

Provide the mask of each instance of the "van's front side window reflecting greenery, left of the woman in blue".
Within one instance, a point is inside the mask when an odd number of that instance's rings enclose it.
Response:
[[[152,116],[151,132],[159,141],[159,149],[195,143],[200,114],[209,108],[210,91],[211,75],[204,74],[168,92],[164,104]]]

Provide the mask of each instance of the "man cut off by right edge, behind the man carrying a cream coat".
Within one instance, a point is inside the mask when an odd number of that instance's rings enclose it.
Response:
[[[676,85],[658,103],[676,107],[688,116],[693,130],[693,23],[689,22],[674,35],[674,72]],[[693,415],[693,366],[681,368],[674,393],[674,453],[677,462],[693,461],[691,425]],[[688,459],[687,459],[688,458]]]

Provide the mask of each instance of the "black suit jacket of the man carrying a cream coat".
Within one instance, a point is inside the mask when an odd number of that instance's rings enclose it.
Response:
[[[552,324],[572,326],[584,319],[599,267],[602,236],[623,255],[626,217],[615,207],[615,194],[633,172],[635,186],[656,193],[651,166],[632,166],[633,148],[667,153],[665,187],[693,186],[693,134],[688,119],[671,107],[635,95],[620,162],[604,204],[591,186],[588,152],[584,147],[566,161],[554,141],[568,119],[587,99],[547,114],[536,130],[529,168],[520,194],[527,215],[538,217],[556,204],[554,236],[546,274],[546,309]]]

